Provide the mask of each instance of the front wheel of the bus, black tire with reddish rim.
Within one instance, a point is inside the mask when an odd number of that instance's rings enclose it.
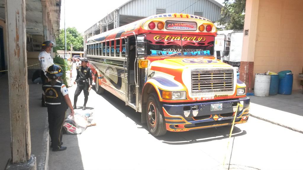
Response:
[[[148,130],[151,135],[162,136],[167,132],[162,105],[155,93],[151,93],[148,96],[145,114]]]

